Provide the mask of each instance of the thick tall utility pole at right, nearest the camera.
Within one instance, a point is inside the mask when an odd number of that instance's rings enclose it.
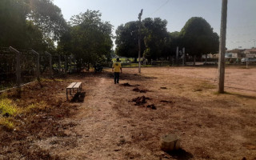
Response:
[[[222,22],[218,57],[218,93],[224,93],[227,0],[222,0]]]

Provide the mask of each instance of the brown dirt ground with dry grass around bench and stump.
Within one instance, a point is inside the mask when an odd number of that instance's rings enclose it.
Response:
[[[22,88],[19,105],[46,102],[0,127],[0,159],[251,159],[256,160],[256,68],[226,68],[226,94],[217,94],[215,67],[110,69]],[[66,86],[82,95],[66,101]],[[182,149],[160,150],[165,134]]]

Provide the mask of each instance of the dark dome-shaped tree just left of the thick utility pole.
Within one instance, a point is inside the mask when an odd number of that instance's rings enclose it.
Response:
[[[218,34],[204,18],[190,18],[180,32],[186,53],[196,56],[218,52]]]

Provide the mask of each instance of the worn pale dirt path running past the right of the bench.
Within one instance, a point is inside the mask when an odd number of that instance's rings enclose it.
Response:
[[[120,137],[118,133],[122,128],[113,110],[116,104],[113,101],[114,90],[118,86],[110,86],[110,79],[106,78],[99,78],[93,89],[86,86],[86,90],[89,89],[86,101],[81,106],[81,112],[73,119],[78,122],[78,127],[74,131],[81,137],[77,148],[62,153],[65,157],[68,156],[68,159],[114,157],[114,150],[118,150],[114,142]]]

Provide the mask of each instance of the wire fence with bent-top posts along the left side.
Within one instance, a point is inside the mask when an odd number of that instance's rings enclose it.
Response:
[[[0,48],[0,91],[75,71],[76,63],[71,57],[13,47]]]

